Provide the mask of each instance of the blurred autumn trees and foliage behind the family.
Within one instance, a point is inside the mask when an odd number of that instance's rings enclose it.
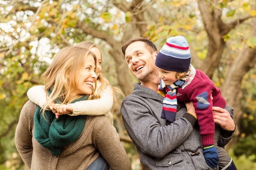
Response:
[[[96,43],[103,74],[128,95],[137,80],[121,46],[145,37],[160,49],[175,35],[186,37],[192,64],[234,107],[236,132],[225,149],[239,170],[256,169],[255,16],[254,0],[0,0],[0,169],[24,169],[14,143],[20,110],[59,49]],[[119,97],[115,127],[133,170],[146,169],[122,124],[121,102]]]

